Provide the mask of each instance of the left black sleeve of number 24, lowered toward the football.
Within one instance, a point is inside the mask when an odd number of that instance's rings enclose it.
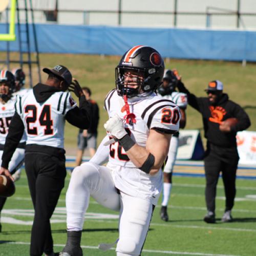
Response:
[[[24,133],[24,124],[20,116],[15,112],[12,117],[8,135],[5,140],[4,152],[2,156],[2,167],[8,169],[9,162],[16,147]]]

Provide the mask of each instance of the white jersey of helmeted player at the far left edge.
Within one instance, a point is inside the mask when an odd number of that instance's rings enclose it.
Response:
[[[5,144],[5,139],[8,134],[9,125],[15,113],[15,102],[15,96],[12,96],[5,104],[0,102],[0,144]],[[25,134],[23,135],[23,138],[20,140],[20,142],[24,141],[26,141]]]

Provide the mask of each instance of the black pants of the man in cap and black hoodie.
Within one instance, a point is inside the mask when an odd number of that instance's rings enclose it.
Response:
[[[223,148],[207,144],[204,158],[206,178],[205,201],[207,210],[215,212],[215,198],[220,172],[225,188],[225,211],[231,210],[236,196],[236,173],[239,156],[237,148]]]

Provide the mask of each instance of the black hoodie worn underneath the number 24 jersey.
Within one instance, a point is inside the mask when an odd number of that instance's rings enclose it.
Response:
[[[38,83],[33,87],[33,93],[37,102],[45,102],[50,98],[55,92],[59,92],[58,89],[54,87],[47,86],[46,84]],[[80,129],[88,129],[91,123],[91,104],[86,100],[85,96],[79,97],[79,108],[76,106],[74,109],[67,112],[65,116],[66,120],[72,125],[77,126]],[[12,155],[23,136],[25,127],[20,116],[15,112],[12,117],[8,135],[5,141],[4,152],[2,156],[2,167],[8,168],[9,162]],[[54,148],[50,146],[39,146],[32,144],[26,146],[26,151],[38,151],[41,153],[51,155],[58,155],[59,151],[63,151],[61,148]],[[63,151],[65,153],[65,151]]]

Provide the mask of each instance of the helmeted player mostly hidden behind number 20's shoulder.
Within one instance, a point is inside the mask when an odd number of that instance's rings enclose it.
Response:
[[[180,108],[181,119],[180,128],[184,128],[186,125],[186,114],[185,110],[187,107],[187,96],[185,93],[177,92],[176,85],[179,81],[179,76],[176,70],[164,70],[163,83],[158,89],[158,93],[165,99],[172,100]],[[168,152],[167,161],[164,164],[163,170],[163,198],[160,210],[160,217],[163,221],[168,221],[167,205],[170,198],[170,192],[172,190],[172,175],[173,167],[176,161],[177,152],[179,146],[179,133],[173,135],[170,141],[170,147]]]

